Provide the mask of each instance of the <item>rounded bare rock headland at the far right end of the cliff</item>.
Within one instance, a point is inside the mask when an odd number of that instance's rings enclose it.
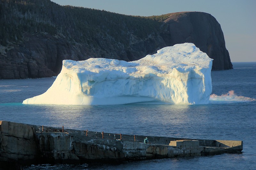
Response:
[[[167,24],[164,40],[168,46],[193,42],[214,59],[212,70],[232,69],[220,24],[212,15],[204,12],[177,12],[171,13],[164,22]]]

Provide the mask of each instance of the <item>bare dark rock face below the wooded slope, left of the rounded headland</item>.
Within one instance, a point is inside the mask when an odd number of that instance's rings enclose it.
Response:
[[[24,34],[24,39],[24,42],[1,55],[0,79],[52,77],[60,73],[62,60],[78,61],[103,57],[133,61],[160,48],[158,45],[156,48],[156,43],[159,43],[157,38],[148,38],[146,42],[136,40],[137,42],[132,42],[129,48],[115,46],[117,43],[112,41],[101,41],[98,48],[92,48],[49,34]],[[161,37],[159,39],[161,40]],[[106,44],[107,48],[101,46]]]

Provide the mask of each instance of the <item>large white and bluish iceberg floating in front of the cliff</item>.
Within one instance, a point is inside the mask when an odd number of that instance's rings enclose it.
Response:
[[[52,86],[23,104],[207,104],[211,69],[212,59],[193,43],[165,47],[133,62],[63,60]]]

